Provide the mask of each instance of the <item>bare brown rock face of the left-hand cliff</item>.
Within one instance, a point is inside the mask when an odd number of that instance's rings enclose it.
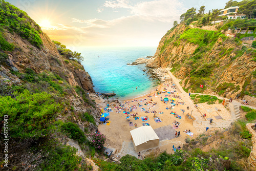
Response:
[[[80,86],[86,91],[93,92],[92,80],[90,75],[84,71],[83,67],[77,67],[78,63],[67,64],[63,57],[57,51],[57,48],[45,34],[40,34],[42,39],[42,48],[38,49],[31,45],[28,40],[22,39],[16,33],[5,31],[5,38],[16,47],[14,51],[8,53],[8,65],[13,71],[24,72],[30,68],[37,74],[42,71],[51,71],[61,78],[67,80],[71,86]]]

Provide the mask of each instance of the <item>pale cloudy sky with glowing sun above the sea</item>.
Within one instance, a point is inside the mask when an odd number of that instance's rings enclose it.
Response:
[[[227,0],[228,1],[228,0]],[[7,0],[26,11],[52,40],[67,46],[156,46],[187,9],[205,12],[224,0]]]

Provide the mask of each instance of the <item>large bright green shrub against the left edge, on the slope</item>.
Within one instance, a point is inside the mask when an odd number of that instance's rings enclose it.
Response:
[[[62,109],[53,96],[46,93],[31,94],[24,90],[16,96],[0,96],[0,118],[8,115],[8,129],[13,138],[44,137]]]

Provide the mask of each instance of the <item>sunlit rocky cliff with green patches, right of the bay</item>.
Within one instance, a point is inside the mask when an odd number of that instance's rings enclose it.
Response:
[[[162,37],[154,57],[147,67],[172,68],[186,91],[233,98],[256,94],[256,51],[219,31],[180,24]]]

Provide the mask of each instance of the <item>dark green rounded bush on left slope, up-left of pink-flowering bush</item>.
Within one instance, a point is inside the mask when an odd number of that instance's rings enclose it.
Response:
[[[82,130],[80,130],[75,123],[63,123],[61,125],[61,129],[68,133],[71,139],[77,140],[79,143],[83,143],[84,141],[86,141],[86,136],[84,136],[84,132],[82,132]]]

